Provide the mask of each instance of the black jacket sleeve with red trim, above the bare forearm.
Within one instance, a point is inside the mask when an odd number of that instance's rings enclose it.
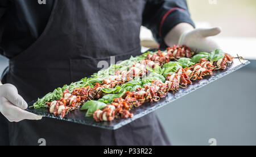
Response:
[[[183,22],[195,27],[186,0],[147,0],[142,25],[152,31],[158,43],[164,43],[167,33]]]

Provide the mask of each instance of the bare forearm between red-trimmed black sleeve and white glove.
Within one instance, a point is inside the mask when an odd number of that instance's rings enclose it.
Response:
[[[194,27],[189,23],[179,23],[177,24],[164,38],[164,42],[167,46],[174,46],[179,43],[180,36],[187,31],[194,30]]]

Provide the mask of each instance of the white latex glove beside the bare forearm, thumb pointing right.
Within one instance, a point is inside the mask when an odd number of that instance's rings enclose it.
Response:
[[[196,28],[192,31],[184,32],[179,39],[179,45],[185,45],[195,52],[212,52],[220,48],[211,38],[221,33],[221,28]]]

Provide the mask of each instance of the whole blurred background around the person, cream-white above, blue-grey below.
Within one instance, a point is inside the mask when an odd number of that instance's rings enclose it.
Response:
[[[256,1],[188,0],[197,27],[222,27],[224,51],[251,61],[240,69],[157,111],[173,145],[256,145]],[[155,48],[142,27],[143,51]],[[8,60],[0,56],[0,73]]]

